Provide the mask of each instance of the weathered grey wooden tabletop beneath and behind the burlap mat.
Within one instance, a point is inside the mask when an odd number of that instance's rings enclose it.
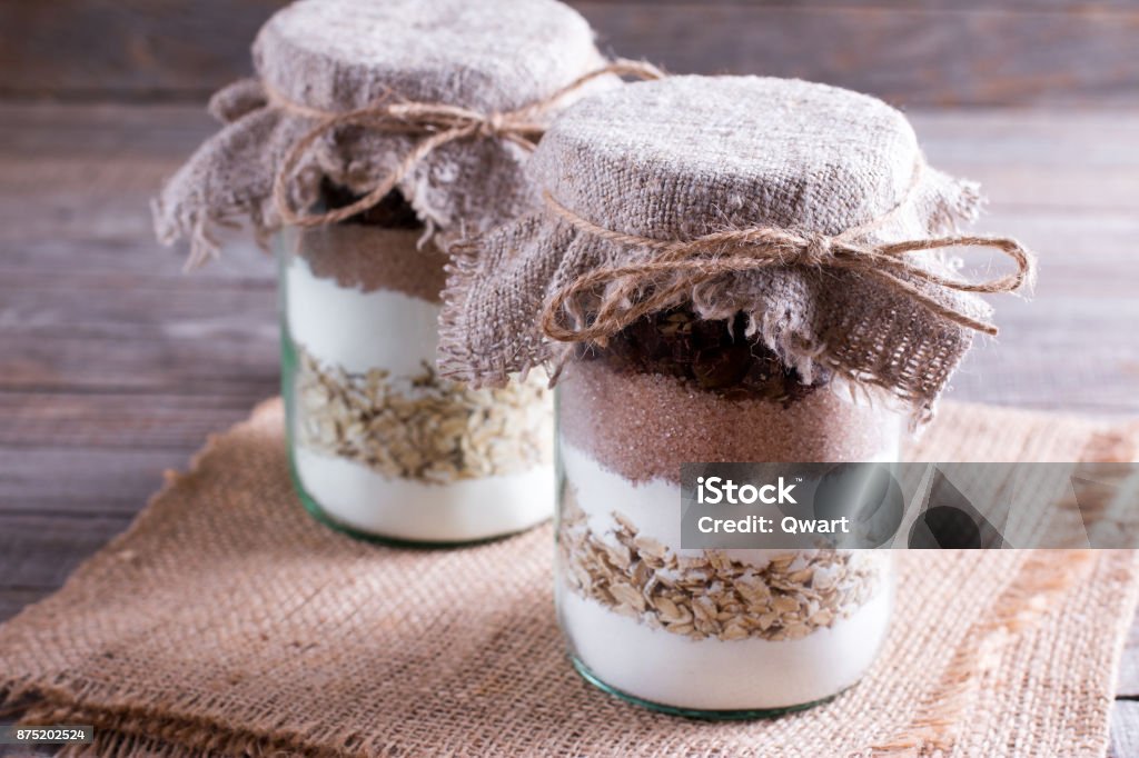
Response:
[[[1034,302],[952,397],[1139,417],[1139,113],[912,114],[982,181],[978,229],[1034,247]],[[185,106],[0,105],[0,620],[122,532],[205,437],[278,392],[274,269],[246,240],[192,277],[147,200],[213,124]],[[1139,755],[1139,631],[1114,751]]]

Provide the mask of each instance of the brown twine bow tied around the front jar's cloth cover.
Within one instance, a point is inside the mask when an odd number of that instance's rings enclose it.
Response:
[[[945,321],[995,335],[997,327],[939,302],[911,280],[959,293],[1013,293],[1035,275],[1035,257],[1015,239],[953,234],[901,242],[858,241],[880,226],[906,205],[918,183],[921,164],[902,201],[883,216],[830,237],[818,232],[756,226],[713,232],[693,240],[659,240],[605,229],[583,219],[544,195],[550,211],[580,232],[617,245],[647,248],[656,253],[641,263],[607,266],[582,274],[562,288],[547,303],[542,331],[558,341],[592,341],[604,346],[608,338],[639,319],[678,305],[693,288],[732,273],[746,273],[771,266],[804,266],[853,271],[871,277],[895,293],[929,308]],[[952,247],[989,247],[1016,263],[1014,273],[980,282],[949,279],[906,259],[906,256]],[[597,314],[588,326],[563,321],[566,305],[588,293],[604,290]],[[646,295],[646,293],[648,293]]]

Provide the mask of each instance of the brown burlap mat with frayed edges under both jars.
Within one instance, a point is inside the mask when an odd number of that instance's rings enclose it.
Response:
[[[1129,458],[1137,436],[949,405],[917,454]],[[860,685],[798,715],[728,724],[652,714],[579,679],[551,554],[549,527],[412,551],[314,524],[289,488],[273,401],[190,473],[170,475],[60,592],[0,627],[0,693],[31,703],[30,722],[93,724],[97,744],[75,755],[1106,750],[1131,553],[900,554],[892,634]]]

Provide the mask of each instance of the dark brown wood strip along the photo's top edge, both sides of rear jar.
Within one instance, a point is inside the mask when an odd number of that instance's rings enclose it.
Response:
[[[202,99],[249,73],[281,0],[7,0],[0,96]],[[895,102],[1139,102],[1131,0],[575,0],[607,51],[826,81]]]

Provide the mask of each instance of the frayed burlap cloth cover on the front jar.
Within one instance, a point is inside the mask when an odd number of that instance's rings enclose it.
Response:
[[[527,172],[558,205],[606,232],[662,241],[756,226],[839,236],[886,216],[866,240],[925,239],[972,220],[980,205],[975,184],[925,164],[906,116],[880,100],[755,76],[672,76],[582,100],[554,122]],[[542,313],[575,279],[657,256],[583,233],[552,206],[452,253],[441,366],[474,384],[501,384],[556,359]],[[907,256],[951,275],[944,258]],[[665,275],[647,289],[674,283]],[[970,318],[990,312],[976,295],[912,283]],[[589,322],[599,300],[567,305]],[[928,411],[973,340],[970,329],[879,279],[827,265],[728,272],[680,300],[707,319],[748,314],[748,333],[808,380],[822,365],[919,411]]]

